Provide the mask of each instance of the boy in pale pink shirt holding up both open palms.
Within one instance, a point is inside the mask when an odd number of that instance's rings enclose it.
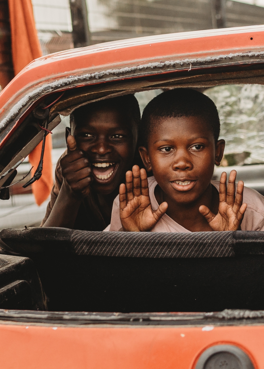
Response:
[[[232,170],[212,181],[225,142],[215,104],[192,89],[164,92],[141,119],[145,169],[126,173],[114,201],[110,231],[196,232],[264,230],[264,197],[244,188]],[[237,188],[236,188],[237,187]],[[244,200],[244,203],[243,203]]]

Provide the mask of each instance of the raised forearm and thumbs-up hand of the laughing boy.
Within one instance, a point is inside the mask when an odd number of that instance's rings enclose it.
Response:
[[[73,228],[84,197],[92,182],[88,159],[76,147],[73,136],[67,138],[68,154],[60,161],[63,182],[58,197],[43,227]]]

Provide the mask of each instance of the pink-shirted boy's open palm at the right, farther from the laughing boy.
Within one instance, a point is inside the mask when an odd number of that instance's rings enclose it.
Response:
[[[206,218],[214,231],[236,231],[240,229],[247,204],[243,204],[244,183],[239,181],[236,192],[236,170],[232,170],[226,186],[226,172],[219,184],[219,209],[215,215],[207,206],[200,206],[200,213]]]

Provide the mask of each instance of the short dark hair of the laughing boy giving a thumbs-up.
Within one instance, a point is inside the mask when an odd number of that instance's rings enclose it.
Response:
[[[95,110],[111,108],[124,113],[131,121],[136,124],[137,128],[140,125],[140,108],[138,101],[133,94],[124,96],[112,97],[110,99],[95,101],[87,105],[75,109],[70,115],[70,123],[78,124],[78,121],[83,120],[83,115]]]

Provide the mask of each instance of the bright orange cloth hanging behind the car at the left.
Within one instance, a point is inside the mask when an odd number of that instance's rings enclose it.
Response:
[[[14,73],[20,72],[32,60],[42,55],[35,27],[31,0],[8,0],[11,28],[12,58]],[[37,169],[40,161],[42,142],[30,153],[29,161]],[[32,184],[35,201],[41,205],[48,197],[53,186],[51,161],[51,135],[46,137],[43,158],[43,170],[40,179]]]

